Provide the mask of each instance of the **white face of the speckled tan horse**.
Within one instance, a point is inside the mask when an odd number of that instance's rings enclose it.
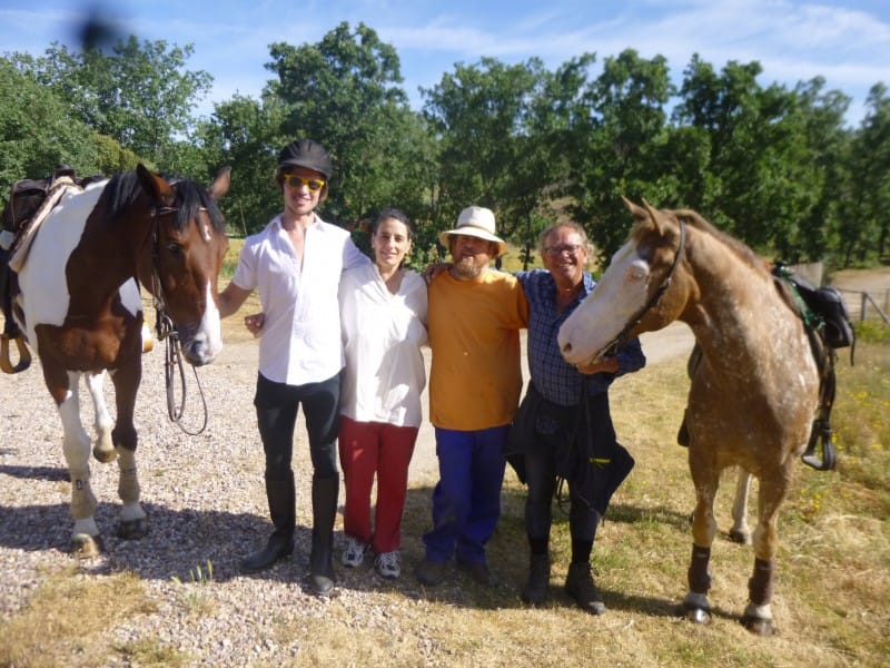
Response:
[[[560,327],[557,341],[566,362],[593,360],[619,335],[645,306],[649,277],[649,264],[627,242],[612,256],[594,291]]]

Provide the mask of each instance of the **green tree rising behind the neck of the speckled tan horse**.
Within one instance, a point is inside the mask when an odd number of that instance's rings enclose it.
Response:
[[[812,220],[823,178],[799,96],[778,85],[762,88],[761,72],[759,62],[730,61],[718,76],[694,56],[674,119],[703,130],[710,143],[702,151],[709,187],[699,208],[749,245],[797,261],[800,224]]]

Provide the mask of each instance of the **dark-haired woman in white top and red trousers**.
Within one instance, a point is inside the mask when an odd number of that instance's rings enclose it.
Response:
[[[402,511],[423,413],[426,283],[403,261],[413,229],[398,209],[372,225],[375,264],[343,274],[340,325],[346,354],[339,455],[346,485],[342,561],[356,567],[369,549],[385,578],[399,574]],[[377,478],[375,525],[370,491]]]

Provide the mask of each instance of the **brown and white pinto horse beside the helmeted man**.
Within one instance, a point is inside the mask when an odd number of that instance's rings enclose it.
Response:
[[[13,315],[40,360],[61,416],[72,549],[80,557],[101,549],[80,377],[96,406],[93,454],[101,462],[118,458],[119,532],[141,538],[147,517],[139,503],[134,407],[142,374],[144,316],[137,281],[169,315],[186,360],[212,362],[222,347],[217,276],[228,247],[216,199],[228,187],[228,168],[207,189],[168,180],[142,165],[91,184],[51,210],[18,273]],[[115,385],[116,422],[102,395],[106,370]]]

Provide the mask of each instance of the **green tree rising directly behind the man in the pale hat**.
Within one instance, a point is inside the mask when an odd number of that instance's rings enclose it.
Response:
[[[554,122],[541,102],[550,76],[538,59],[507,66],[493,58],[457,63],[424,90],[424,115],[439,141],[437,216],[442,227],[471,204],[495,212],[498,232],[525,245],[556,178],[547,146]]]

